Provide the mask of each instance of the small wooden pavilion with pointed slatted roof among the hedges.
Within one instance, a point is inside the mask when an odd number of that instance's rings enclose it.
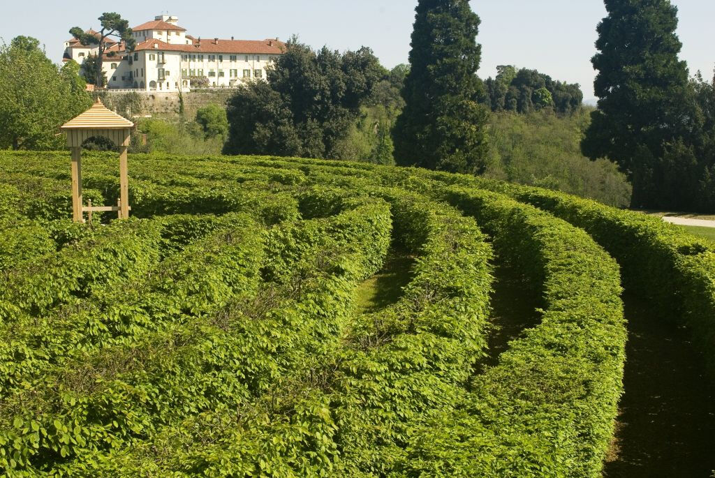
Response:
[[[134,123],[110,111],[97,98],[92,108],[67,121],[60,129],[67,134],[72,151],[72,219],[84,222],[84,212],[119,211],[119,219],[129,217],[129,182],[127,149]],[[119,147],[119,204],[117,206],[84,206],[82,201],[82,143],[93,136],[103,136]]]

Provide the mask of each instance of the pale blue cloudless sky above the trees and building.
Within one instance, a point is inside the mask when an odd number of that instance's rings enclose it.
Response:
[[[370,46],[391,67],[407,61],[417,0],[122,1],[107,2],[105,7],[92,1],[0,3],[0,37],[10,41],[20,34],[35,36],[54,61],[61,59],[69,28],[97,26],[102,11],[118,11],[132,26],[169,11],[194,36],[287,39],[298,34],[315,47]],[[710,77],[715,66],[715,0],[673,3],[680,10],[682,57],[691,73],[700,69]],[[596,24],[606,14],[601,0],[472,0],[471,4],[482,19],[480,76],[493,76],[498,64],[516,64],[577,82],[587,99],[593,96],[590,59]]]

